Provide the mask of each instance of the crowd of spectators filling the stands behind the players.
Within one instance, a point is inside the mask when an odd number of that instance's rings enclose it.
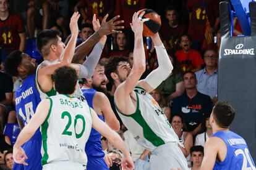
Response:
[[[19,134],[15,103],[15,89],[20,79],[7,75],[4,62],[12,51],[19,49],[40,63],[36,49],[36,34],[44,29],[59,30],[62,41],[69,41],[69,18],[79,11],[79,38],[77,46],[93,33],[92,17],[100,20],[120,15],[124,20],[122,33],[108,36],[101,62],[111,56],[124,55],[133,63],[134,35],[130,29],[132,15],[140,9],[153,9],[161,15],[160,36],[173,63],[173,72],[150,94],[159,103],[177,136],[184,144],[182,153],[192,169],[200,168],[203,145],[211,136],[209,116],[218,100],[218,51],[220,49],[220,0],[0,0],[0,169],[12,169],[11,148]],[[242,30],[234,19],[234,35]],[[145,78],[158,67],[154,44],[145,38],[147,68]],[[86,57],[85,59],[86,60]],[[82,81],[80,81],[82,83]],[[109,100],[113,103],[114,87],[108,86]],[[117,118],[118,115],[116,114]],[[119,119],[121,121],[121,119]],[[147,159],[132,134],[122,126],[119,134],[130,149],[133,160]],[[10,126],[11,128],[6,128]],[[4,130],[5,129],[5,130]],[[6,131],[6,129],[9,129]],[[122,154],[101,138],[104,149],[120,163]],[[200,147],[202,146],[202,147]],[[6,164],[6,166],[4,166]]]

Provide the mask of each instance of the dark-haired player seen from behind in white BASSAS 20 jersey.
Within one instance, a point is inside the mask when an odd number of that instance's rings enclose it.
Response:
[[[74,68],[58,68],[53,81],[59,94],[40,102],[35,115],[22,129],[14,145],[14,161],[27,164],[27,156],[21,146],[41,126],[43,169],[85,169],[87,156],[84,148],[93,127],[122,151],[122,167],[132,170],[134,164],[121,137],[101,121],[86,103],[71,97],[77,87]]]

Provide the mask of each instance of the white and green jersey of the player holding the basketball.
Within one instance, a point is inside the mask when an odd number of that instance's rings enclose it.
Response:
[[[124,115],[116,109],[134,139],[150,151],[169,142],[178,142],[179,138],[153,97],[141,87],[135,87],[134,91],[137,96],[135,113]]]

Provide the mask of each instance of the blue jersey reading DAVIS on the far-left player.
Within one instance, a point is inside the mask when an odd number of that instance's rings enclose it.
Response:
[[[22,85],[15,92],[15,110],[26,125],[35,114],[37,105],[41,102],[40,94],[35,87],[35,75],[27,76]],[[38,129],[34,136],[40,137],[41,132]]]

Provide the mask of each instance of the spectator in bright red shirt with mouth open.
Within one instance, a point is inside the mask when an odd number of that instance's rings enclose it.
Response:
[[[192,49],[192,41],[188,35],[182,35],[179,46],[182,48],[176,52],[177,60],[182,71],[198,71],[202,68],[203,59],[200,52]]]

